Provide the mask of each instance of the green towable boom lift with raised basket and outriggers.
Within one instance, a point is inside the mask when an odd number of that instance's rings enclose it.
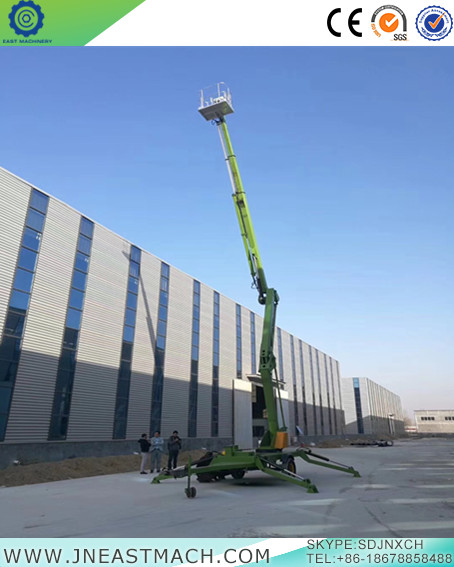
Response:
[[[258,301],[265,306],[263,320],[262,342],[260,347],[260,381],[263,386],[268,428],[262,438],[260,447],[256,450],[242,450],[233,445],[226,447],[222,452],[208,451],[201,459],[189,462],[184,467],[173,470],[164,470],[157,475],[152,484],[168,478],[187,477],[186,496],[193,498],[196,489],[191,486],[191,476],[197,475],[199,482],[222,480],[228,475],[241,479],[247,471],[261,470],[275,478],[303,486],[308,492],[318,492],[316,486],[296,473],[295,457],[301,457],[308,463],[347,472],[359,477],[358,471],[353,467],[335,463],[327,457],[313,453],[310,449],[288,447],[288,433],[285,427],[282,402],[280,398],[280,384],[276,372],[276,358],[273,354],[273,342],[276,323],[276,308],[279,302],[277,291],[268,287],[262,260],[255,239],[251,215],[246,200],[240,172],[233,152],[232,142],[225,116],[233,112],[230,91],[224,83],[218,83],[210,94],[202,91],[199,112],[202,116],[217,125],[224,150],[225,160],[233,186],[233,200],[240,224],[249,269],[253,286],[258,291]],[[279,409],[282,426],[279,426],[276,397],[279,400]]]

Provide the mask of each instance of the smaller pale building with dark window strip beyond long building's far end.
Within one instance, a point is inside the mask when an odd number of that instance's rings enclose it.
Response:
[[[369,378],[342,378],[345,433],[401,435],[404,418],[399,396]]]

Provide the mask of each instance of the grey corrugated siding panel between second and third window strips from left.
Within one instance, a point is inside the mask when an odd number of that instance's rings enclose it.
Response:
[[[112,439],[129,243],[95,225],[68,440]]]

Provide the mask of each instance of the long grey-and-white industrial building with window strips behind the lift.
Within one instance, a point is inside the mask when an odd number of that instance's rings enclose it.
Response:
[[[259,314],[1,168],[0,197],[1,466],[258,442]],[[338,361],[280,328],[275,353],[290,437],[342,434]]]

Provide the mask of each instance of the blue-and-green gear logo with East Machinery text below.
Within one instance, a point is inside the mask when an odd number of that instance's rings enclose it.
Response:
[[[11,7],[11,12],[8,14],[9,27],[14,30],[19,38],[3,38],[2,43],[14,44],[29,44],[29,43],[52,43],[51,39],[35,39],[29,38],[30,35],[36,36],[38,31],[44,25],[44,13],[39,4],[32,0],[21,0],[18,4]]]

